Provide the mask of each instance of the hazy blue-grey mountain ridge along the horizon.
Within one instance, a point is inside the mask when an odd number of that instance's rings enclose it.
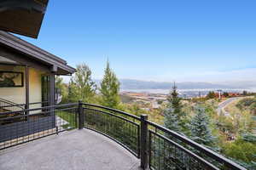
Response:
[[[147,82],[132,79],[120,79],[121,89],[170,89],[173,82]],[[99,84],[100,80],[96,80]],[[177,82],[179,89],[205,89],[205,88],[220,88],[220,89],[245,89],[255,88],[256,82]]]

